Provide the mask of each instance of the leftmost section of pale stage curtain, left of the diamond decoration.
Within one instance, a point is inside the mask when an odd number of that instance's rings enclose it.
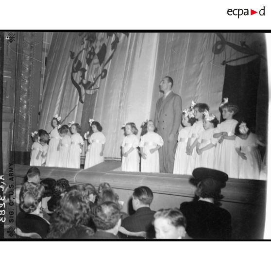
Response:
[[[70,120],[81,122],[83,104],[79,102],[78,91],[70,80],[73,62],[70,51],[78,51],[82,47],[81,39],[78,33],[53,33],[45,70],[39,129],[50,132],[54,114],[62,119],[68,116],[63,124]],[[85,54],[81,55],[82,59]]]

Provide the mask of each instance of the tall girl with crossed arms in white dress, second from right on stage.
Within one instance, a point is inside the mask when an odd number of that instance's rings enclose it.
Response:
[[[239,158],[234,146],[235,127],[238,121],[233,117],[238,113],[239,108],[225,98],[220,104],[220,110],[225,120],[218,124],[214,131],[214,138],[219,138],[215,151],[214,169],[227,173],[230,178],[238,178]]]

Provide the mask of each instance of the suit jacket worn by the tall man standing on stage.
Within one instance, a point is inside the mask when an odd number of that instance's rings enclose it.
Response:
[[[177,135],[182,120],[182,98],[170,92],[166,99],[159,98],[156,103],[154,124],[157,133],[163,140],[168,140],[169,134]]]

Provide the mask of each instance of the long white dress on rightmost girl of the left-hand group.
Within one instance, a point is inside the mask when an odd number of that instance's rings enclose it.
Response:
[[[85,169],[93,167],[104,161],[104,157],[100,155],[102,152],[102,144],[105,144],[105,136],[102,132],[95,132],[90,135],[90,142],[87,146],[85,154]]]

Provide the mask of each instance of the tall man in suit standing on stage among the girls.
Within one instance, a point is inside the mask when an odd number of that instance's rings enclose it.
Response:
[[[156,103],[154,124],[162,136],[164,145],[159,149],[160,172],[173,173],[174,155],[177,146],[178,129],[182,120],[182,99],[171,89],[173,80],[166,76],[160,82],[164,96]]]

